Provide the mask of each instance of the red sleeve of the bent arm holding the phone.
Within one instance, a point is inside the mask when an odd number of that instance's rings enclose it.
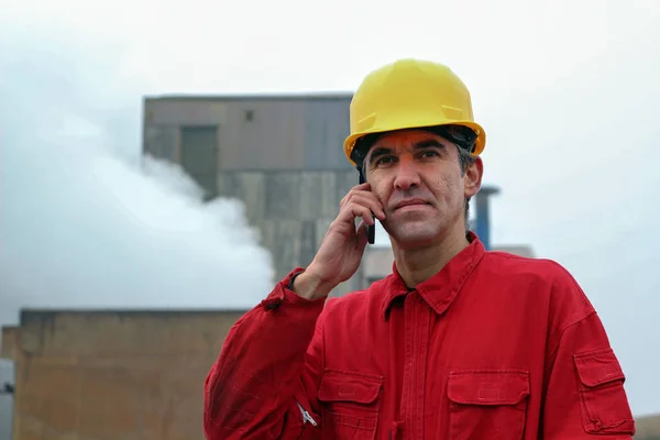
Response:
[[[288,289],[292,272],[230,330],[205,382],[208,440],[309,439],[319,417],[324,299]]]

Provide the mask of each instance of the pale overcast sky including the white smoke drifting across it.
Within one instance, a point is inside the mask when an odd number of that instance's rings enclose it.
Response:
[[[21,305],[254,304],[271,268],[240,210],[135,172],[141,97],[352,91],[422,57],[472,91],[494,243],[571,271],[635,413],[660,411],[657,0],[0,3],[0,323]]]

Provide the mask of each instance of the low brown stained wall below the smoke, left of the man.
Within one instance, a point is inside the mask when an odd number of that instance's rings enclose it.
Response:
[[[14,440],[202,439],[202,387],[241,314],[29,311],[15,361]]]

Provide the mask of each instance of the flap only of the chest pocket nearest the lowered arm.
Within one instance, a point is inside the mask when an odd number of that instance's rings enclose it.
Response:
[[[447,394],[463,405],[516,405],[529,396],[529,373],[520,370],[451,372]]]

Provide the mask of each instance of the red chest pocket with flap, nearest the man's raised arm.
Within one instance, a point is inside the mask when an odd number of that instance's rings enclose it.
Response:
[[[383,377],[327,369],[318,399],[323,439],[373,440],[381,418]]]

